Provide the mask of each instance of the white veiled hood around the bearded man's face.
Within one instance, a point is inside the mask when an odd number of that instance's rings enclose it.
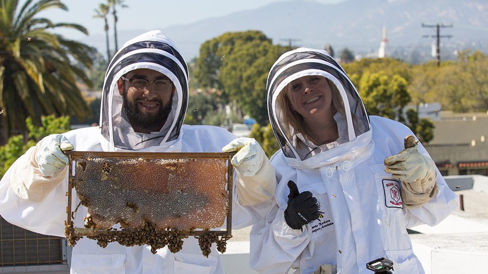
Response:
[[[171,112],[159,132],[134,132],[125,117],[123,98],[117,80],[136,69],[158,71],[173,81]],[[188,69],[173,41],[159,30],[141,34],[125,43],[115,54],[105,73],[100,125],[102,136],[110,146],[123,150],[145,150],[174,141],[180,136],[188,103]]]

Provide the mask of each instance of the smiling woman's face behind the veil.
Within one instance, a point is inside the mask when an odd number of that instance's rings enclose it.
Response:
[[[290,108],[302,115],[307,123],[333,117],[332,92],[325,77],[304,76],[293,80],[290,87],[291,91],[287,94]]]

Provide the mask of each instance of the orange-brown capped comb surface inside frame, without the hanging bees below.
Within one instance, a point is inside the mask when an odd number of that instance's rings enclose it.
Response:
[[[73,180],[95,228],[220,227],[228,212],[221,159],[79,158]]]

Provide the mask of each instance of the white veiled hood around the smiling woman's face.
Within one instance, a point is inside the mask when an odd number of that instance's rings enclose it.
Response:
[[[281,106],[278,95],[295,79],[318,75],[334,85],[334,115],[339,139],[331,144],[315,145],[299,129],[286,121],[289,106]],[[336,88],[336,89],[335,89]],[[326,51],[298,48],[281,55],[272,66],[267,80],[268,113],[271,127],[286,160],[292,166],[316,168],[339,161],[352,161],[371,149],[369,117],[363,101],[343,68]],[[332,93],[334,93],[332,92]]]

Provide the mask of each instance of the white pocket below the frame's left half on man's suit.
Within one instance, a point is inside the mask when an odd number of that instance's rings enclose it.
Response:
[[[125,254],[73,254],[71,273],[125,273]]]

